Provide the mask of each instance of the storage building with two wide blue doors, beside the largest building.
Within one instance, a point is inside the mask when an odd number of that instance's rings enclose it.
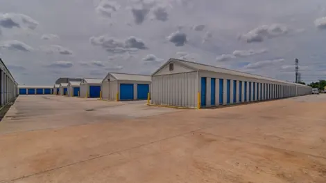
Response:
[[[151,76],[108,73],[102,81],[102,97],[106,100],[147,99],[151,93]]]

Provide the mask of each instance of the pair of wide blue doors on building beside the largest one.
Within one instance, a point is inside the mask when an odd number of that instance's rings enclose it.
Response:
[[[137,84],[137,99],[147,99],[149,84]],[[134,99],[134,84],[120,84],[120,99]]]

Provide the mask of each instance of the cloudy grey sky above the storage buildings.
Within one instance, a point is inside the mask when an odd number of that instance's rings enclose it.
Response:
[[[325,0],[0,1],[0,57],[19,84],[151,74],[171,57],[326,79]]]

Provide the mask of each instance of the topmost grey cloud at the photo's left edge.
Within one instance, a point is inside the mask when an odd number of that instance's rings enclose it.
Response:
[[[29,28],[34,30],[38,22],[24,14],[5,13],[0,14],[0,26],[3,28]]]

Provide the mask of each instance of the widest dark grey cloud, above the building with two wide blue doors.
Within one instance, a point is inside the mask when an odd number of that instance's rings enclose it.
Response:
[[[144,41],[133,36],[128,37],[125,40],[119,40],[114,37],[103,35],[99,37],[91,37],[89,41],[94,46],[101,46],[108,52],[131,52],[147,49]]]

